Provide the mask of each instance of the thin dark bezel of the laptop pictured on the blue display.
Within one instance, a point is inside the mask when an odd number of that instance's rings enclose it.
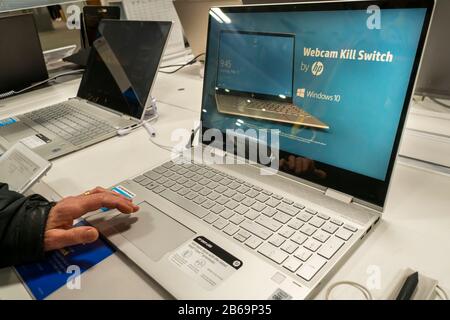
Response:
[[[293,46],[293,52],[292,52],[292,61],[294,61],[295,57],[295,34],[292,33],[271,33],[271,32],[255,32],[255,31],[245,31],[245,30],[220,30],[220,36],[222,36],[223,33],[236,33],[236,34],[249,34],[249,35],[261,35],[261,36],[279,36],[279,37],[285,37],[285,38],[293,38],[294,46]],[[221,39],[219,37],[219,39]],[[220,40],[219,40],[219,58],[220,58]],[[292,103],[293,102],[293,96],[294,96],[294,62],[292,62],[292,70],[291,70],[291,95],[286,96],[286,98],[281,98],[277,95],[271,95],[271,94],[264,94],[259,92],[246,92],[246,91],[238,91],[238,90],[231,90],[224,88],[220,88],[218,85],[216,87],[216,93],[223,94],[223,95],[231,95],[231,96],[239,96],[243,98],[254,98],[254,99],[261,99],[261,100],[270,100],[270,101],[278,101],[278,102],[287,102]],[[219,79],[219,64],[217,64],[217,79],[216,83]]]

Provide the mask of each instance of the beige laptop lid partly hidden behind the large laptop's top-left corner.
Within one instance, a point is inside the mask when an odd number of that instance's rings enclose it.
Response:
[[[240,0],[176,0],[173,1],[192,54],[196,57],[206,53],[208,12],[212,7],[240,5]],[[199,60],[204,61],[201,57]]]

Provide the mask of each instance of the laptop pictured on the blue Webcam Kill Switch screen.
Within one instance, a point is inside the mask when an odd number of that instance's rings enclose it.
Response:
[[[222,30],[216,84],[219,112],[328,129],[293,104],[294,52],[293,34]]]

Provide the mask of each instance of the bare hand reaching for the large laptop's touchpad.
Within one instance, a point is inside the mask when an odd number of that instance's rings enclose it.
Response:
[[[102,207],[118,209],[122,213],[139,210],[130,199],[101,187],[76,197],[64,198],[50,210],[44,235],[45,251],[97,240],[97,229],[73,227],[73,220]]]

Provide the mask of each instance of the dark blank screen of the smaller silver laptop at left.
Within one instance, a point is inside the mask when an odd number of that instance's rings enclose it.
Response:
[[[102,20],[78,97],[140,119],[171,25]]]

